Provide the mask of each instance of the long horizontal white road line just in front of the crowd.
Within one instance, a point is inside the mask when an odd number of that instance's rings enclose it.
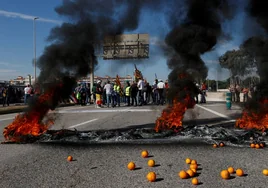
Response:
[[[153,112],[153,111],[159,111],[159,110],[153,110],[153,109],[111,109],[111,110],[73,110],[73,111],[67,111],[67,110],[59,110],[56,113],[60,114],[67,114],[67,113],[98,113],[98,112]]]

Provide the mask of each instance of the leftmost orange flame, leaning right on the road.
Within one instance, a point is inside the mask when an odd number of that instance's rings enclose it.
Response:
[[[50,110],[50,102],[57,94],[56,88],[38,97],[30,111],[19,114],[14,121],[5,127],[3,135],[6,140],[13,142],[24,141],[26,137],[38,137],[45,133],[53,124],[50,117],[43,122],[43,118]]]

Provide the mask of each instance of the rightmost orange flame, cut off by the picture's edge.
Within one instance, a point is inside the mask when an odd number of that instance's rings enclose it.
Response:
[[[237,127],[243,129],[257,129],[265,131],[268,129],[268,99],[260,101],[258,111],[248,108],[244,109],[242,117],[236,120]]]

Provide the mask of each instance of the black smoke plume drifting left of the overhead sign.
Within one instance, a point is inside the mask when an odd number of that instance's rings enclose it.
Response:
[[[55,11],[66,19],[51,30],[50,45],[38,59],[43,88],[65,78],[77,80],[92,71],[91,62],[98,65],[95,56],[105,35],[122,34],[137,29],[141,9],[159,9],[164,1],[156,0],[63,0]],[[75,82],[67,82],[71,91]],[[46,86],[46,87],[45,87]]]

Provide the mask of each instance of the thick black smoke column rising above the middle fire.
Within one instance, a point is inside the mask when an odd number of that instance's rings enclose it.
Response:
[[[169,97],[172,99],[180,91],[190,92],[193,96],[197,94],[193,82],[204,80],[208,73],[200,55],[213,49],[217,39],[223,34],[222,19],[231,14],[228,1],[224,0],[189,0],[186,3],[188,10],[185,20],[173,27],[166,36],[167,45],[175,51],[168,60],[171,69]],[[181,77],[183,74],[188,76]],[[179,100],[181,97],[185,95],[180,95]]]

